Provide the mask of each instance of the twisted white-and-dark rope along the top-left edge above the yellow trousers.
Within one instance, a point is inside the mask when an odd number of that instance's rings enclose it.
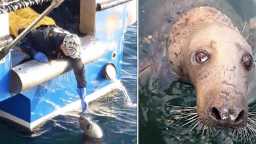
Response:
[[[51,0],[9,0],[8,2],[3,2],[3,0],[0,0],[0,14],[17,9],[24,9],[26,7],[31,7],[32,5],[38,5],[49,1]]]

